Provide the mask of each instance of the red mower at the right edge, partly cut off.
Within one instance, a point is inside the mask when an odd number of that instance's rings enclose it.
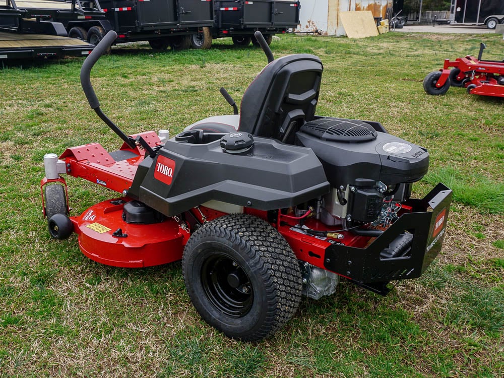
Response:
[[[482,60],[484,43],[478,58],[467,55],[455,61],[445,59],[442,70],[428,74],[423,89],[430,95],[444,95],[450,86],[465,87],[470,94],[504,97],[504,60]]]

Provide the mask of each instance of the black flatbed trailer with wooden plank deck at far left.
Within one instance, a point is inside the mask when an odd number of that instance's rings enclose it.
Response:
[[[68,38],[58,22],[24,19],[12,0],[0,5],[0,59],[89,55],[94,46]]]

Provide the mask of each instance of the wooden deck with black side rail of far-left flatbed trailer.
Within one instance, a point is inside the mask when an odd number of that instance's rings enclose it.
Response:
[[[0,59],[85,56],[94,46],[75,38],[0,31]]]

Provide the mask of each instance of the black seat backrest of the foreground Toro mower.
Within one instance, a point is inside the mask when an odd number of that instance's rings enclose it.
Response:
[[[292,143],[295,132],[315,115],[323,69],[311,54],[273,60],[243,94],[238,130]]]

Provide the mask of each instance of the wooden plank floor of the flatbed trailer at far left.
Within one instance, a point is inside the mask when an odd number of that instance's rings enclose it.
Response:
[[[80,39],[45,34],[17,34],[0,32],[0,48],[44,47],[44,46],[87,46]]]

